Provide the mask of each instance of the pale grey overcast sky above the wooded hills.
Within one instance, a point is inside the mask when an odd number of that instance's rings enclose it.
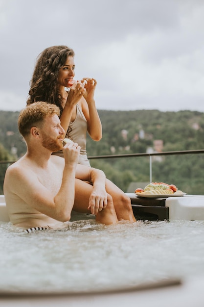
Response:
[[[0,0],[0,110],[25,106],[54,45],[97,80],[98,109],[204,112],[204,0]]]

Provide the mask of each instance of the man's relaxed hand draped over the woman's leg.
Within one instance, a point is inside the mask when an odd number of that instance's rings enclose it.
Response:
[[[93,187],[92,193],[89,199],[88,209],[92,214],[97,214],[103,208],[107,206],[107,193],[106,190],[101,187]]]

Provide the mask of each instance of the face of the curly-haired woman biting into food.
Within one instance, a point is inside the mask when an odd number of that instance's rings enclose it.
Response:
[[[74,76],[74,58],[73,56],[68,56],[65,64],[63,67],[60,68],[57,83],[59,86],[65,86],[68,87],[68,81],[71,80]]]

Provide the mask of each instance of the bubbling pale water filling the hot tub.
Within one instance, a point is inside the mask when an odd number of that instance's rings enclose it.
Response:
[[[0,222],[0,292],[100,291],[204,274],[203,238],[204,221],[88,219],[33,233]]]

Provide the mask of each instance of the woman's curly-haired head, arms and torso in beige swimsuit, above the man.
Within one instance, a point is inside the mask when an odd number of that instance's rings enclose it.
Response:
[[[101,121],[94,101],[97,82],[93,78],[74,81],[74,69],[72,49],[67,46],[46,48],[38,56],[27,104],[45,101],[59,106],[66,137],[81,146],[79,163],[90,166],[86,152],[87,132],[94,141],[102,138]],[[63,156],[62,151],[54,154]]]

